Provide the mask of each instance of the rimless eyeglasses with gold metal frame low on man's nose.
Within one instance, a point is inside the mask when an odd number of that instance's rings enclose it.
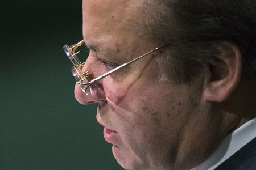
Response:
[[[130,63],[133,63],[133,62],[137,61],[138,59],[141,59],[141,58],[147,56],[148,54],[155,52],[156,50],[158,50],[160,48],[163,48],[163,46],[168,45],[168,44],[161,45],[161,46],[151,50],[150,52],[143,54],[142,56],[134,58],[129,62],[123,63],[122,65],[115,67],[114,69],[98,76],[97,78],[92,79],[93,74],[89,70],[85,70],[84,72],[82,72],[82,67],[84,67],[85,62],[81,63],[79,58],[77,58],[77,54],[79,54],[80,51],[76,52],[76,49],[79,48],[80,46],[82,46],[83,44],[85,44],[84,40],[78,42],[75,45],[70,45],[70,46],[64,45],[63,49],[64,49],[64,52],[67,54],[68,58],[71,60],[71,62],[74,65],[71,68],[71,72],[76,79],[76,83],[80,85],[82,92],[84,92],[86,95],[91,94],[92,90],[90,87],[92,86],[92,84],[98,82],[98,80],[101,80],[101,79],[105,78],[106,76],[113,74],[115,71],[122,69],[122,67],[125,67],[125,66],[129,65]],[[87,80],[88,82],[84,82],[84,80]]]

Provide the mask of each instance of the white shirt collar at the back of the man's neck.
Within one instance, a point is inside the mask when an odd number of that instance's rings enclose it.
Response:
[[[220,146],[203,163],[192,170],[212,170],[236,153],[240,148],[256,137],[256,117],[228,134]]]

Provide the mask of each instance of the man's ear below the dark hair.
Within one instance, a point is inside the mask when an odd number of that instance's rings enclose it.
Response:
[[[232,42],[218,45],[220,53],[209,63],[210,76],[205,82],[203,98],[211,102],[228,99],[240,82],[242,53]]]

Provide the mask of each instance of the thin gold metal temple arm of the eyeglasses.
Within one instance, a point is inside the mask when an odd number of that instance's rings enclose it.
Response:
[[[166,44],[166,45],[168,45],[168,44]],[[151,50],[150,52],[147,52],[146,54],[143,54],[142,56],[139,56],[139,57],[137,57],[137,58],[135,58],[135,59],[133,59],[133,60],[127,62],[127,63],[123,63],[122,65],[120,65],[120,66],[118,66],[118,67],[115,67],[113,70],[110,70],[110,71],[108,71],[107,73],[102,74],[101,76],[98,76],[97,78],[91,80],[90,82],[82,83],[82,80],[80,80],[79,82],[76,82],[76,83],[77,83],[77,84],[80,84],[80,85],[90,86],[90,84],[93,84],[93,83],[95,83],[95,82],[98,82],[98,80],[101,80],[101,79],[105,78],[106,76],[108,76],[108,75],[114,73],[115,71],[121,69],[122,67],[124,67],[124,66],[126,66],[126,65],[129,65],[130,63],[133,63],[133,62],[137,61],[138,59],[141,59],[141,58],[147,56],[148,54],[150,54],[150,53],[152,53],[152,52],[155,52],[156,50],[158,50],[158,49],[160,49],[160,48],[163,48],[163,46],[166,46],[166,45],[159,46],[158,48],[155,48],[155,49]]]

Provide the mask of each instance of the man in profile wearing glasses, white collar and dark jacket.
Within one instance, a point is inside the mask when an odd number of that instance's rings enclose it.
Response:
[[[82,2],[84,40],[65,46],[75,97],[98,103],[121,167],[256,168],[255,9],[238,0]]]

